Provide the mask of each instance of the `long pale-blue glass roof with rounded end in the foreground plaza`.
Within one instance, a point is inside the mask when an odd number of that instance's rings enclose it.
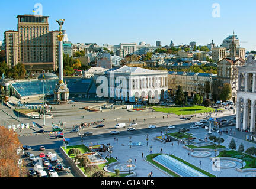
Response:
[[[168,168],[168,170],[174,171],[181,177],[207,177],[201,172],[194,170],[193,168],[183,164],[183,162],[180,162],[177,159],[170,157],[169,155],[158,155],[157,157],[153,158],[153,161],[158,162],[158,164]]]

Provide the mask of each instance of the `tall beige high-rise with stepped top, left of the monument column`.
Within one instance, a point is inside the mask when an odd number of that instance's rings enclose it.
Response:
[[[18,15],[17,18],[17,31],[4,32],[7,65],[23,63],[30,71],[56,71],[59,31],[49,31],[49,17]]]

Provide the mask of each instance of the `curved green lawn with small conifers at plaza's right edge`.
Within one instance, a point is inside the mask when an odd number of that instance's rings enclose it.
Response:
[[[236,156],[238,155],[238,156]],[[239,155],[244,155],[244,159],[242,157],[239,157]],[[236,156],[236,157],[234,157]],[[247,158],[251,158],[251,159],[255,159],[255,157],[252,157],[251,155],[247,155],[247,154],[244,154],[244,153],[241,153],[241,152],[238,152],[238,151],[235,151],[235,150],[229,150],[229,151],[221,151],[220,154],[217,156],[217,157],[231,157],[231,158],[238,158],[238,159],[242,159],[245,161],[246,165],[245,167],[243,167],[243,169],[245,168],[255,168],[255,167],[251,167],[251,161],[247,161]]]

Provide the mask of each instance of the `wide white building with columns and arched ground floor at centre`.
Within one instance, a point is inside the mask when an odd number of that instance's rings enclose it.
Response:
[[[167,71],[122,66],[108,70],[107,77],[110,98],[149,103],[167,99]]]

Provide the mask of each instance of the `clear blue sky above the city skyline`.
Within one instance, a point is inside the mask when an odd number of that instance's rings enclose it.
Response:
[[[255,0],[1,1],[0,41],[4,31],[17,30],[17,15],[34,14],[37,3],[49,16],[49,30],[58,30],[55,20],[65,19],[63,29],[72,43],[207,45],[213,40],[221,45],[234,30],[241,47],[256,50]]]

